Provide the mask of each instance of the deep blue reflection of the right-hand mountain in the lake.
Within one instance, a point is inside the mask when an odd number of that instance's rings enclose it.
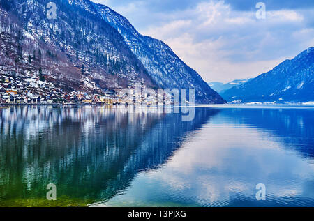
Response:
[[[224,109],[234,121],[274,134],[305,158],[314,158],[314,109]],[[293,139],[292,139],[293,137]]]

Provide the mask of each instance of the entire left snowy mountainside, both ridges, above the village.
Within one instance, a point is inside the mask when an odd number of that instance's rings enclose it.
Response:
[[[64,89],[115,91],[141,82],[195,89],[198,103],[223,103],[165,43],[142,36],[121,15],[89,0],[0,0],[0,73],[38,73]],[[48,8],[49,9],[49,8]]]

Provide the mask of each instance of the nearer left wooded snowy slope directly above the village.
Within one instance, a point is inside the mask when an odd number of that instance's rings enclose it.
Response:
[[[0,72],[24,76],[43,69],[46,80],[67,89],[116,90],[142,82],[156,86],[119,32],[89,1],[84,7],[56,0],[57,19],[47,18],[47,0],[1,0]]]

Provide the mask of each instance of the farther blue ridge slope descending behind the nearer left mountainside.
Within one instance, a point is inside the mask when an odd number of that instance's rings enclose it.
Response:
[[[212,90],[195,70],[188,67],[174,54],[172,49],[160,40],[142,36],[128,20],[114,10],[95,4],[103,20],[110,23],[147,68],[149,75],[162,88],[194,88],[196,102],[225,102],[216,91]]]

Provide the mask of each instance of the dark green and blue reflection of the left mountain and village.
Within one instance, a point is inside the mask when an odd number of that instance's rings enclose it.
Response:
[[[165,163],[189,132],[217,110],[180,114],[130,114],[103,107],[22,107],[0,111],[0,205],[5,199],[58,196],[84,204],[109,199],[137,172]],[[20,204],[23,206],[23,203]]]

